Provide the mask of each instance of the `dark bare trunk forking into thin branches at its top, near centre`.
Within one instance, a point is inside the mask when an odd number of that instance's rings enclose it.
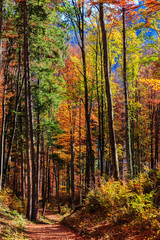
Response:
[[[85,192],[87,193],[90,188],[90,183],[92,180],[92,185],[95,185],[94,176],[94,152],[92,150],[91,141],[91,129],[90,129],[90,112],[89,112],[89,98],[88,98],[88,81],[87,81],[87,70],[86,70],[86,53],[85,53],[85,43],[84,43],[84,2],[79,4],[78,1],[72,1],[74,7],[75,18],[69,13],[69,18],[75,30],[75,35],[77,38],[78,45],[81,49],[82,63],[83,63],[83,80],[85,89],[85,117],[86,117],[86,172],[85,172]],[[78,28],[79,38],[77,36],[75,25]],[[91,176],[90,176],[91,175]]]

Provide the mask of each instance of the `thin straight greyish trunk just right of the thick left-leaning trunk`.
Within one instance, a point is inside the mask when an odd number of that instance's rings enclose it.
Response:
[[[125,111],[126,111],[126,157],[128,163],[128,172],[130,177],[133,177],[132,166],[132,151],[131,151],[131,129],[130,129],[130,117],[128,108],[128,82],[127,82],[127,60],[126,60],[126,16],[125,8],[123,12],[123,81],[124,81],[124,93],[125,93]]]

